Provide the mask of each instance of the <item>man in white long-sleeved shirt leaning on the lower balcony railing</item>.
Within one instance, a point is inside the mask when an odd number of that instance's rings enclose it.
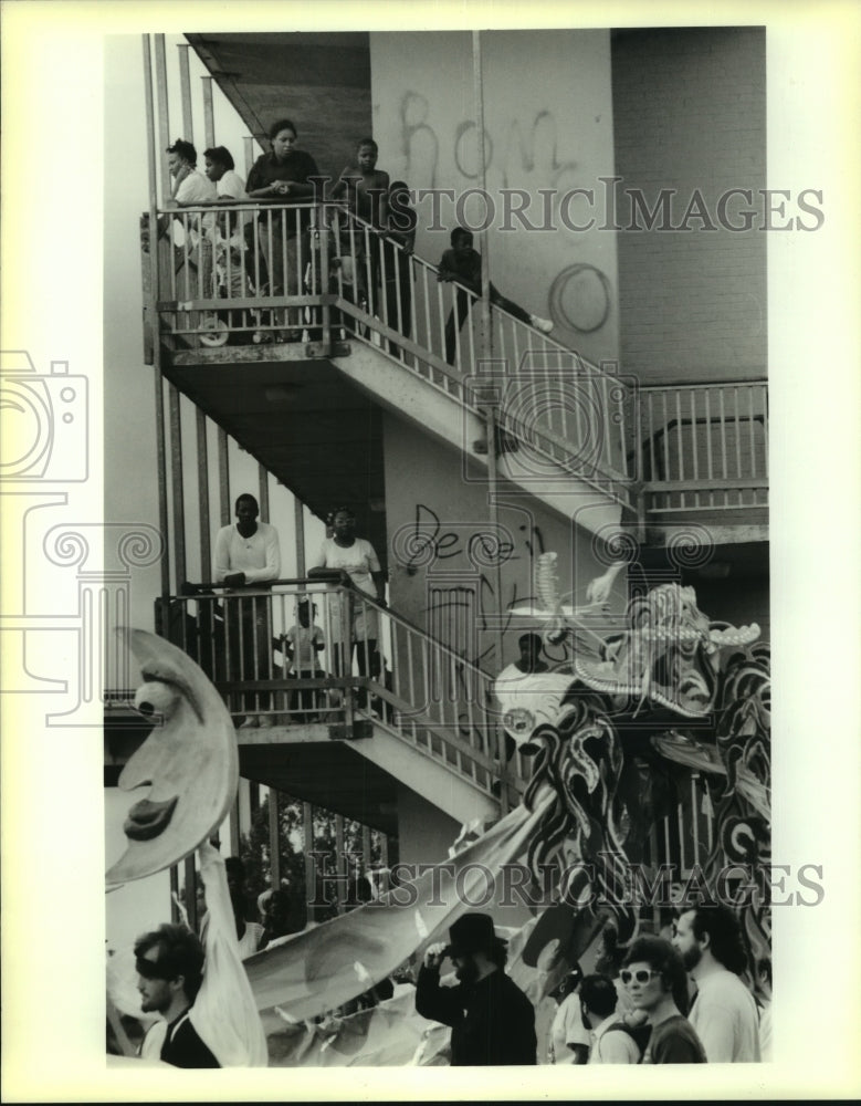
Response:
[[[258,522],[260,508],[253,495],[237,500],[237,522],[222,526],[216,538],[214,577],[227,584],[224,620],[228,634],[228,669],[231,680],[272,678],[272,628],[269,597],[235,598],[245,588],[260,591],[281,573],[281,549],[274,526]],[[269,711],[267,693],[246,692],[246,710]],[[271,713],[249,713],[242,728],[272,726]]]

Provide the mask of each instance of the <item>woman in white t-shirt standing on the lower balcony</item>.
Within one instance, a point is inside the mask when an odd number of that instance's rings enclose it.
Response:
[[[345,587],[354,587],[372,596],[377,603],[385,605],[386,577],[380,570],[374,546],[364,538],[356,536],[356,517],[353,511],[346,507],[339,507],[332,517],[332,529],[333,536],[323,542],[317,562],[309,570],[308,576],[312,580],[328,580],[330,583]],[[334,647],[333,668],[335,675],[347,675],[353,659],[353,650],[358,646],[359,675],[372,676],[379,638],[377,612],[358,599],[355,602],[351,645],[347,649],[342,629],[343,601],[346,598],[347,596],[342,593],[335,593],[328,597],[329,641]],[[365,705],[366,698],[364,695],[359,696],[360,706]]]

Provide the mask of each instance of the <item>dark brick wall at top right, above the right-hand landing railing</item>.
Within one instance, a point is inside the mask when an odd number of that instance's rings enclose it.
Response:
[[[693,217],[687,231],[619,233],[622,369],[643,383],[765,376],[767,234],[762,219],[733,231],[717,215],[727,189],[756,200],[766,185],[765,30],[618,32],[612,94],[620,192],[639,189],[653,209],[661,189],[676,189],[678,227],[700,189],[715,227]],[[725,221],[743,227],[742,209],[763,202],[735,198]],[[631,213],[620,199],[619,225]]]

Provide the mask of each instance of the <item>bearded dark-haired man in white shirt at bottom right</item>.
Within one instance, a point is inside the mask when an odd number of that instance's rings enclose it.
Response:
[[[675,924],[673,945],[696,983],[689,1020],[708,1063],[762,1060],[756,1001],[738,978],[747,953],[735,914],[723,905],[686,910]]]

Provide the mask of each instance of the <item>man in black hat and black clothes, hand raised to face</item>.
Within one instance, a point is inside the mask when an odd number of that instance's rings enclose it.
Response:
[[[431,945],[416,988],[416,1010],[451,1025],[452,1067],[535,1064],[535,1011],[505,974],[505,941],[487,914],[465,914],[449,930],[450,943]],[[449,957],[456,987],[440,987]]]

